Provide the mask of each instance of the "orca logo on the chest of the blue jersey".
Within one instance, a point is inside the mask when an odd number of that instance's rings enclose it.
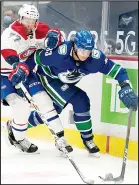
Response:
[[[59,79],[64,83],[76,83],[78,82],[83,76],[84,73],[81,73],[80,70],[67,70],[66,72],[62,72],[58,74]]]

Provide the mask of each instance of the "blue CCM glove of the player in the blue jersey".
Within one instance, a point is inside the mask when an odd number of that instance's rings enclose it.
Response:
[[[129,84],[121,87],[121,90],[118,92],[120,100],[124,103],[124,105],[129,109],[130,107],[133,111],[137,110],[138,107],[138,97],[134,93],[133,89]]]

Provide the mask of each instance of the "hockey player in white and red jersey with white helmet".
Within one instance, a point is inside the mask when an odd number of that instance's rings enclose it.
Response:
[[[70,152],[72,148],[64,139],[63,127],[51,99],[35,73],[29,74],[24,64],[36,49],[43,47],[44,39],[50,49],[57,47],[61,43],[61,33],[58,29],[50,29],[47,24],[39,22],[39,12],[34,5],[24,4],[18,14],[19,19],[4,30],[1,38],[1,99],[4,105],[11,106],[13,113],[13,120],[7,122],[9,140],[23,152],[38,151],[38,147],[26,139],[30,104],[22,97],[21,89],[15,88],[16,82],[12,84],[10,81],[14,79],[14,75],[21,75],[22,79],[27,79],[26,85],[34,102]]]

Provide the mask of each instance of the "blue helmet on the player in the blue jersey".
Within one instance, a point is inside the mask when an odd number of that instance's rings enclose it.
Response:
[[[94,38],[87,30],[77,31],[74,37],[74,43],[80,49],[91,51],[94,48]]]

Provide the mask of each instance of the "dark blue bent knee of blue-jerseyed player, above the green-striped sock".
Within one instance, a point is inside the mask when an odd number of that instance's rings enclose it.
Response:
[[[84,113],[90,110],[90,100],[82,90],[73,96],[69,103],[72,104],[75,113]]]

